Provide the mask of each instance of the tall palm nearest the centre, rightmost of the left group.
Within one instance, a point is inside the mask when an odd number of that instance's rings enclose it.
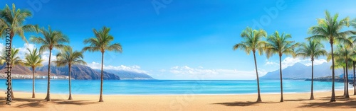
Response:
[[[101,83],[100,83],[100,99],[99,102],[103,102],[103,65],[104,65],[104,52],[114,51],[122,52],[122,47],[119,43],[111,43],[114,40],[114,37],[109,34],[110,28],[105,26],[97,31],[93,29],[95,37],[90,37],[87,40],[84,40],[84,44],[90,44],[88,47],[83,48],[83,52],[101,52]]]

